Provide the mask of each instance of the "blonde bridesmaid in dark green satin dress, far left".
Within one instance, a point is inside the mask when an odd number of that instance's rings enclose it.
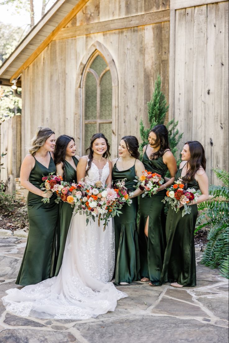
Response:
[[[40,189],[41,178],[56,173],[54,163],[55,133],[38,127],[32,140],[30,154],[21,166],[21,185],[28,189],[27,206],[29,234],[16,284],[33,285],[53,276],[58,204],[51,191]],[[50,198],[49,203],[41,201]]]

